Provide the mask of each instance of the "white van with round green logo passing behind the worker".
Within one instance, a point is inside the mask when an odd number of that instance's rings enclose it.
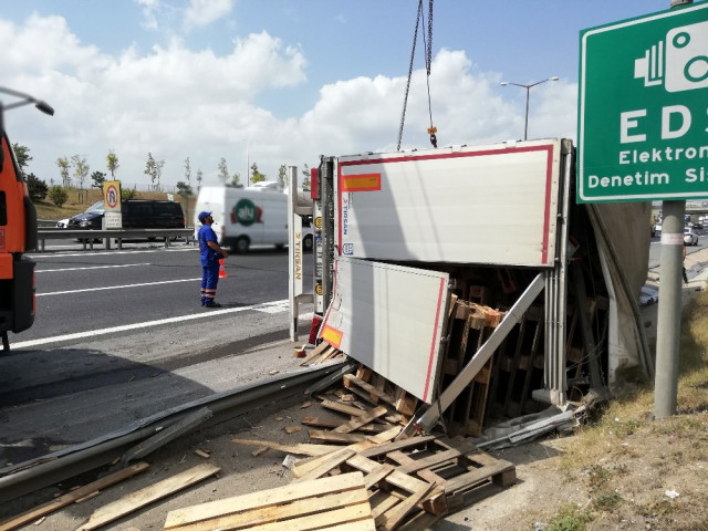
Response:
[[[288,195],[271,187],[229,188],[205,186],[199,189],[195,207],[195,238],[201,223],[199,212],[214,217],[211,228],[221,247],[248,252],[251,246],[282,248],[288,244]],[[303,250],[313,246],[312,228],[303,220]]]

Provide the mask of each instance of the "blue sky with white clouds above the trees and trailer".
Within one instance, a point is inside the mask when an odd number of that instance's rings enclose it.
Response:
[[[427,4],[427,2],[426,2]],[[84,157],[144,186],[147,154],[162,183],[217,184],[320,155],[396,148],[415,0],[0,0],[0,83],[45,100],[6,114],[29,171],[60,181],[55,160]],[[439,145],[576,136],[579,33],[668,9],[669,0],[437,0],[429,79]],[[424,9],[427,23],[427,6]],[[421,27],[423,30],[423,27]],[[419,39],[403,148],[429,147]],[[9,104],[10,96],[0,94]],[[243,177],[241,179],[243,181]]]

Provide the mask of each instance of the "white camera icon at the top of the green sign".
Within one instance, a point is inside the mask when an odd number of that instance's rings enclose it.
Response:
[[[667,92],[708,87],[708,22],[674,28],[634,61],[634,77]]]

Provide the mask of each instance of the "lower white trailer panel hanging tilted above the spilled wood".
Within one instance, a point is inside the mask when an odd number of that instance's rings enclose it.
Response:
[[[429,404],[448,281],[447,273],[340,257],[319,335]]]

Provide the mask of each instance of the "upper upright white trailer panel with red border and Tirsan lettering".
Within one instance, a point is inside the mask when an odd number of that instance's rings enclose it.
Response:
[[[339,157],[339,253],[550,268],[560,159],[560,139]]]

